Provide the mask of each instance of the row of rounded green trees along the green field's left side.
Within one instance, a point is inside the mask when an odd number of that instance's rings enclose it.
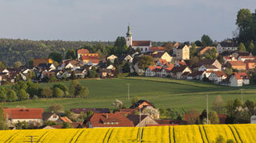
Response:
[[[82,86],[77,80],[72,80],[69,87],[65,84],[54,84],[51,88],[42,88],[39,84],[21,80],[17,84],[0,87],[0,102],[38,98],[86,98],[89,93],[89,88]]]

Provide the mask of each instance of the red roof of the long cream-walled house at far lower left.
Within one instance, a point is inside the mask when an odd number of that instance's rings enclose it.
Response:
[[[8,119],[43,119],[43,108],[3,108]]]

